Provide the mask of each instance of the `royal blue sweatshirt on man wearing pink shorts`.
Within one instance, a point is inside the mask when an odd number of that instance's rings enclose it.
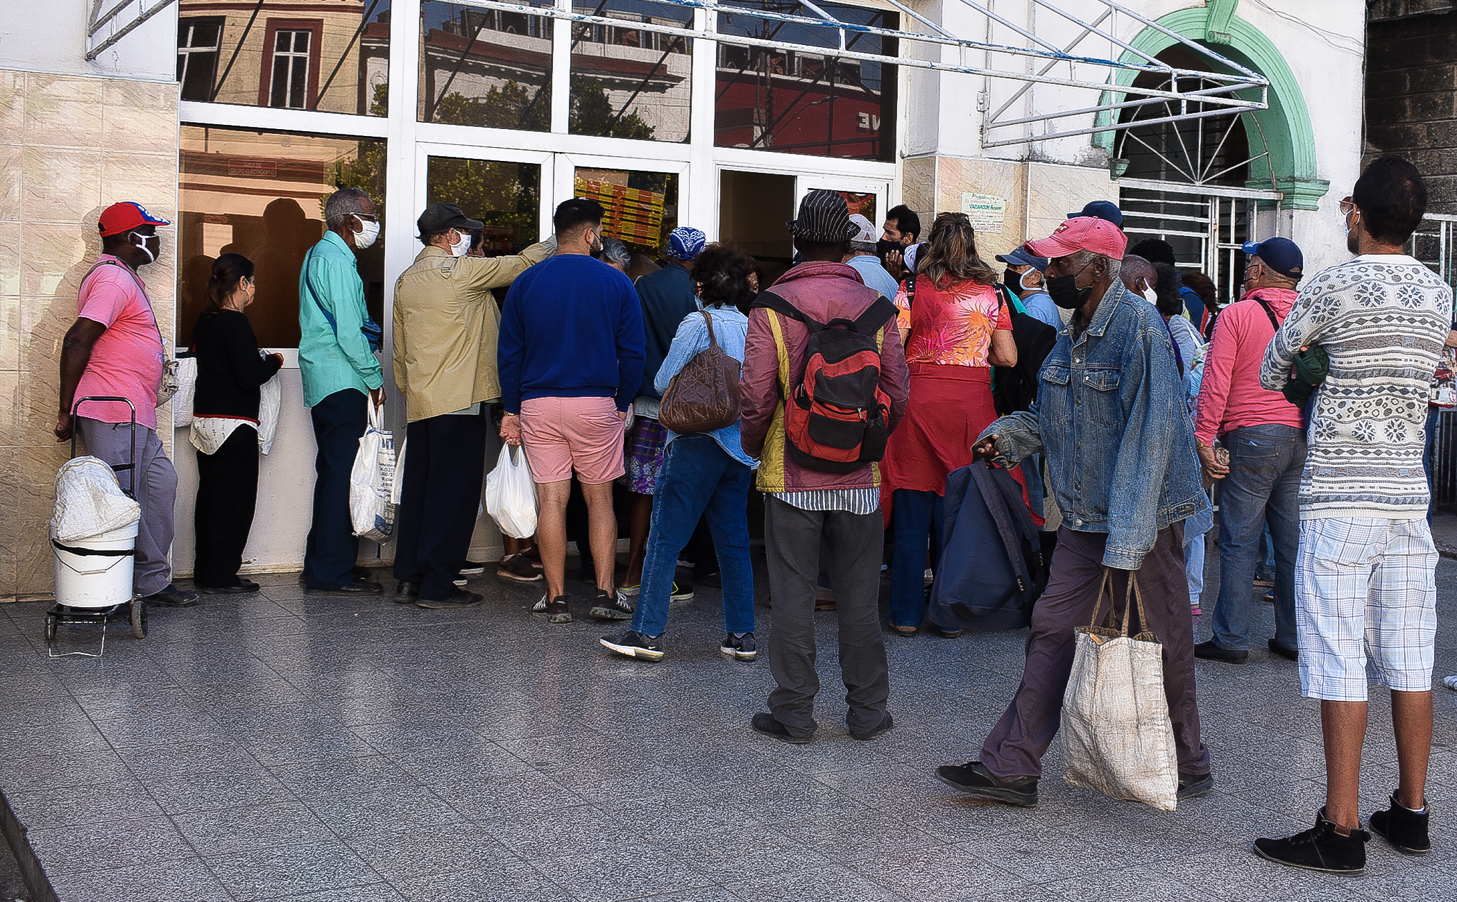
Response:
[[[501,309],[495,366],[506,412],[530,398],[613,398],[643,383],[643,309],[622,272],[561,254],[516,277]]]

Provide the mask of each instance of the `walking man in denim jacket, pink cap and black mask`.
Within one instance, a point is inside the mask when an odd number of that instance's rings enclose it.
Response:
[[[1148,611],[1138,630],[1163,643],[1179,797],[1202,796],[1214,783],[1199,739],[1183,561],[1183,520],[1208,503],[1169,331],[1158,310],[1119,281],[1126,245],[1118,226],[1094,217],[1071,219],[1024,245],[1052,258],[1048,290],[1074,310],[1072,322],[1042,366],[1037,402],[991,424],[975,450],[1008,468],[1046,455],[1062,528],[1048,589],[1032,613],[1016,698],[979,761],[937,771],[972,796],[1037,803],[1042,756],[1058,732],[1072,670],[1072,631],[1093,622],[1106,570],[1115,571],[1119,606],[1136,574]]]

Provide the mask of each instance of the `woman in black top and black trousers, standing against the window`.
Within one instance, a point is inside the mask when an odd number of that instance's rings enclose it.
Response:
[[[237,576],[258,501],[258,388],[283,366],[262,356],[243,309],[254,302],[254,264],[240,254],[213,262],[207,309],[192,328],[197,392],[197,564],[192,581],[207,595],[258,592]]]

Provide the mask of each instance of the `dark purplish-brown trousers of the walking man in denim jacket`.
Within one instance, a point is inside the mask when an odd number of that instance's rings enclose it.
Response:
[[[1074,532],[1067,526],[1058,530],[1052,577],[1032,609],[1021,685],[982,745],[982,764],[998,778],[1042,777],[1042,756],[1062,723],[1062,695],[1075,653],[1072,630],[1093,621],[1103,584],[1106,545],[1106,533]],[[1138,624],[1138,630],[1152,630],[1164,646],[1164,695],[1174,726],[1179,772],[1208,774],[1209,750],[1199,739],[1199,708],[1193,692],[1193,618],[1189,615],[1189,583],[1183,565],[1183,523],[1158,530],[1152,551],[1135,573],[1148,612],[1148,622]],[[1126,592],[1125,571],[1115,571],[1113,596],[1119,608]],[[1129,628],[1129,632],[1134,630]]]

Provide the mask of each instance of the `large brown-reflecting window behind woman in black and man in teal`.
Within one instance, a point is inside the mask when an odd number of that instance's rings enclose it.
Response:
[[[182,125],[178,182],[178,345],[192,341],[207,306],[213,261],[233,252],[254,261],[248,319],[258,344],[294,348],[299,271],[323,238],[323,201],[335,188],[363,188],[383,217],[385,141]],[[383,322],[383,236],[358,267],[370,316]]]

